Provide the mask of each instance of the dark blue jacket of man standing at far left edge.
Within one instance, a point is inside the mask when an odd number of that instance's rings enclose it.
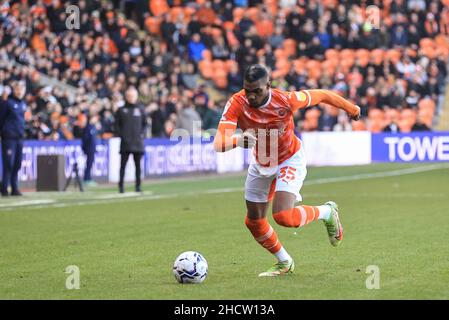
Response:
[[[3,139],[23,139],[26,103],[10,95],[0,100],[0,135]]]

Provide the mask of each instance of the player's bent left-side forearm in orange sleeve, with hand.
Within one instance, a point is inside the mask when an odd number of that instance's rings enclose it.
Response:
[[[214,139],[216,152],[226,152],[235,147],[252,148],[256,145],[256,137],[250,132],[235,134],[236,125],[220,122]]]

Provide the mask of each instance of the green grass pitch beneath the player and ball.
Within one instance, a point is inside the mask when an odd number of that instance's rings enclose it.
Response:
[[[0,299],[449,299],[448,164],[309,168],[304,203],[336,201],[345,238],[334,248],[321,221],[288,229],[270,212],[296,262],[279,278],[257,277],[274,259],[244,225],[244,178],[0,199]],[[187,250],[209,263],[202,284],[172,275]],[[366,288],[371,265],[380,289]]]

